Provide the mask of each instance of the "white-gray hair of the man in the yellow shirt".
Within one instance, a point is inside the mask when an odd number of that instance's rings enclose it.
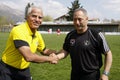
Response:
[[[25,19],[27,18],[27,16],[31,13],[32,8],[38,8],[41,10],[42,12],[42,8],[40,6],[35,6],[33,3],[28,3],[26,8],[25,8]]]

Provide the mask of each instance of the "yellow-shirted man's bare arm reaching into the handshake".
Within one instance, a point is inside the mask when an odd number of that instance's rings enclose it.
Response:
[[[22,46],[18,48],[20,53],[23,55],[24,59],[28,62],[50,62],[57,60],[55,57],[49,57],[49,56],[39,56],[35,53],[32,53],[30,48],[28,46]]]

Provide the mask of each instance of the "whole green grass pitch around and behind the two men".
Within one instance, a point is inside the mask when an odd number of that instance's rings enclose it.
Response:
[[[9,33],[0,33],[0,56],[5,48],[8,34]],[[56,34],[42,34],[42,36],[47,48],[58,51],[61,49],[66,35],[62,34],[57,36]],[[113,64],[109,80],[120,80],[120,36],[106,36],[106,39],[113,53]],[[30,68],[33,80],[70,80],[71,63],[69,56],[59,61],[56,65],[49,63],[32,63]]]

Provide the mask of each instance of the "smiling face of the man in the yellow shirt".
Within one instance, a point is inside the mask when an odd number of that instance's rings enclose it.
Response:
[[[43,13],[38,8],[32,8],[31,13],[27,16],[27,22],[29,27],[32,30],[39,28],[40,24],[42,23]]]

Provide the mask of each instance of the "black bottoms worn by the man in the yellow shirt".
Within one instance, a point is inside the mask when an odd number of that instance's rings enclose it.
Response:
[[[0,80],[32,80],[29,68],[16,69],[0,61]]]

